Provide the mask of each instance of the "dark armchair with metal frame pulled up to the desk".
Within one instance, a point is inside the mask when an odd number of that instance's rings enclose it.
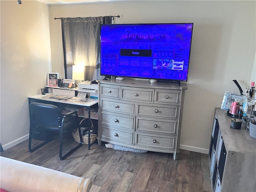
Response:
[[[60,160],[64,160],[68,155],[74,152],[77,148],[82,146],[82,133],[79,126],[78,114],[76,111],[62,114],[60,108],[52,104],[44,104],[38,102],[32,102],[29,105],[30,110],[30,132],[28,149],[30,152],[34,152],[41,146],[54,139],[56,134],[60,134]],[[80,135],[80,143],[62,156],[63,147],[63,134],[71,129],[78,128]],[[35,140],[42,140],[41,144],[32,146],[32,138]]]

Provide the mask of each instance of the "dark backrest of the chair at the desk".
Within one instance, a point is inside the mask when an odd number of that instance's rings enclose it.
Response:
[[[59,127],[62,121],[60,108],[51,104],[32,102],[29,105],[32,122],[42,127]]]

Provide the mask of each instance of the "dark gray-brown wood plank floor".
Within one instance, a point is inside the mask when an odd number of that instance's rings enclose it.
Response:
[[[77,143],[68,138],[67,146]],[[58,139],[30,153],[24,141],[0,155],[75,176],[91,178],[91,192],[210,192],[207,154],[181,150],[173,154],[134,153],[83,145],[65,160],[58,158]]]

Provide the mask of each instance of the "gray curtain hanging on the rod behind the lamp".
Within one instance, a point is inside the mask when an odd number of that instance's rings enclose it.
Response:
[[[84,65],[84,80],[100,77],[100,24],[112,16],[61,18],[65,78],[72,79],[72,65]]]

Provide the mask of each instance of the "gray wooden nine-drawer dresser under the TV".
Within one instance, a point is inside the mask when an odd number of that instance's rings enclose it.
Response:
[[[102,80],[98,141],[130,148],[180,152],[184,84]]]

